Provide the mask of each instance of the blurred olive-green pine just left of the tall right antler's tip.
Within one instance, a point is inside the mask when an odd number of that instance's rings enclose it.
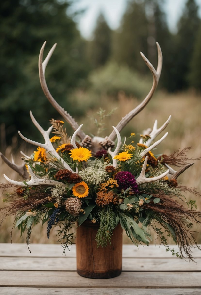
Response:
[[[121,29],[113,37],[113,59],[141,73],[147,71],[140,51],[147,56],[148,22],[142,1],[128,3]]]

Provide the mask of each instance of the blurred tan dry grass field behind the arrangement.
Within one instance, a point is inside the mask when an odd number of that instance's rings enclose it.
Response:
[[[88,94],[78,92],[75,96],[75,103],[82,106],[85,104],[86,100],[90,99]],[[94,98],[92,97],[91,100]],[[134,97],[127,97],[123,93],[118,94],[118,98],[110,98],[106,95],[103,95],[99,98],[98,107],[101,106],[106,111],[110,111],[114,107],[117,107],[115,113],[110,117],[106,118],[106,125],[108,130],[104,131],[103,136],[109,135],[112,131],[112,125],[116,126],[119,120],[133,109],[139,101]],[[98,109],[97,109],[98,110]],[[96,110],[89,110],[84,119],[78,120],[78,123],[84,124],[83,130],[85,133],[94,133],[95,127],[91,120],[93,114]],[[199,158],[201,156],[201,96],[196,96],[194,93],[180,93],[180,94],[166,94],[164,92],[157,92],[145,109],[139,113],[128,126],[121,132],[121,135],[128,135],[131,132],[136,134],[141,134],[143,129],[152,127],[155,119],[158,120],[158,126],[161,126],[169,117],[172,115],[172,119],[166,128],[169,132],[169,135],[166,139],[159,145],[155,154],[165,153],[170,154],[175,150],[182,149],[183,147],[192,146],[193,149],[190,150],[188,156],[189,158],[195,157]],[[163,131],[162,135],[165,132]],[[136,142],[139,137],[136,136]],[[158,137],[159,139],[159,137]],[[24,150],[28,148],[29,150]],[[23,145],[21,148],[25,153],[32,153],[34,147],[27,147]],[[10,158],[12,152],[12,147],[7,147],[6,157]],[[21,163],[20,153],[14,155],[16,163]],[[196,187],[198,191],[201,191],[201,165],[200,161],[195,161],[195,164],[185,171],[181,176],[179,176],[178,181],[184,183],[184,185],[189,187]],[[3,174],[5,173],[9,178],[19,179],[17,174],[6,166],[6,164],[0,159],[0,181],[5,182]],[[201,197],[190,196],[186,194],[187,199],[196,199],[198,209],[201,210]],[[0,201],[0,207],[3,206],[3,202]],[[0,227],[0,242],[10,242],[10,233],[13,225],[13,218],[8,217],[1,224]],[[32,243],[54,243],[57,241],[56,232],[51,232],[50,240],[47,240],[46,237],[46,226],[41,228],[41,225],[38,224],[32,231],[31,242]],[[201,243],[201,228],[198,228],[195,225],[195,233],[197,242]],[[200,232],[200,233],[199,233]],[[17,229],[12,231],[12,241],[13,242],[25,242],[26,234],[23,238],[20,237]],[[153,238],[152,243],[159,243],[160,241]],[[171,240],[169,240],[171,242]],[[124,243],[129,243],[129,240],[124,236]],[[31,248],[31,245],[30,245]]]

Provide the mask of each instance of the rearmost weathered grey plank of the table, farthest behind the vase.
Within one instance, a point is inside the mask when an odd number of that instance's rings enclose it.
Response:
[[[201,245],[200,245],[201,246]],[[177,245],[169,245],[169,247],[177,252]],[[72,245],[70,252],[66,250],[66,256],[62,255],[62,246],[58,244],[31,244],[31,253],[29,253],[26,244],[23,243],[0,243],[0,256],[10,257],[76,257],[75,245]],[[201,258],[201,251],[197,248],[192,249],[192,255],[195,258]],[[135,245],[123,245],[123,257],[138,257],[138,258],[161,258],[172,257],[172,253],[166,252],[165,247],[161,245],[142,246],[137,248]]]

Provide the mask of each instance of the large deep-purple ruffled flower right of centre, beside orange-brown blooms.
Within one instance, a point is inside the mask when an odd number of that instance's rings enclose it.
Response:
[[[120,171],[116,174],[115,179],[119,185],[119,189],[126,190],[129,186],[131,186],[131,191],[135,194],[139,193],[138,186],[135,180],[135,176],[128,171]]]

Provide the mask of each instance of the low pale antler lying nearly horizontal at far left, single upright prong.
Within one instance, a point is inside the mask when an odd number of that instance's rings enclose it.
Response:
[[[64,183],[61,183],[59,181],[55,181],[55,180],[50,180],[50,179],[42,179],[42,178],[38,178],[33,171],[31,170],[30,166],[28,165],[28,169],[29,169],[29,174],[31,176],[31,179],[29,181],[26,182],[26,184],[22,181],[14,181],[10,178],[8,178],[5,174],[4,177],[6,178],[6,180],[11,183],[14,186],[36,186],[36,185],[50,185],[50,186],[55,186],[55,185],[65,185]]]

